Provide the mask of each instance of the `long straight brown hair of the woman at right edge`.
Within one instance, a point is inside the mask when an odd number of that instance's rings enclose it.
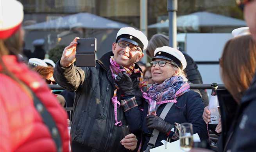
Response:
[[[243,35],[227,41],[220,67],[225,87],[240,102],[256,72],[256,43],[252,36]]]

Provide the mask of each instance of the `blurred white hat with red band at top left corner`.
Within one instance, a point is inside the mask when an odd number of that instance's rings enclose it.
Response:
[[[23,5],[17,0],[0,0],[0,39],[11,37],[23,21]]]

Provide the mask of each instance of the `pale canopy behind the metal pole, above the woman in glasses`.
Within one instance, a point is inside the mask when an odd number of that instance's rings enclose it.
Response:
[[[210,12],[195,12],[188,15],[177,17],[177,27],[192,27],[198,30],[199,27],[245,27],[245,21],[236,18],[230,18]],[[169,20],[149,25],[148,28],[168,28]]]

